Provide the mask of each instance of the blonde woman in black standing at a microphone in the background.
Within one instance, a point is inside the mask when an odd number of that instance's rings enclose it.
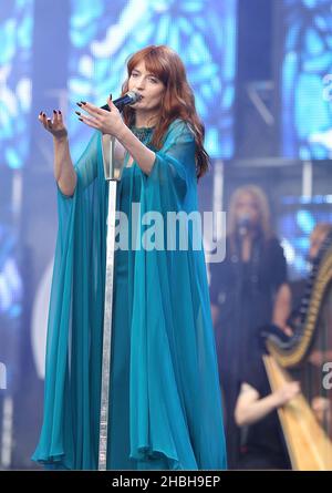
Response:
[[[286,326],[287,286],[283,249],[270,229],[263,192],[248,185],[231,197],[228,212],[226,258],[211,264],[210,299],[225,402],[228,464],[237,468],[240,430],[234,413],[239,380],[257,355],[258,329],[273,321]],[[286,314],[287,311],[287,314]]]

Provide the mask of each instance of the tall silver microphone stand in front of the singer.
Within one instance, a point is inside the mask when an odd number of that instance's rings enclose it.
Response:
[[[102,137],[103,164],[105,179],[108,182],[107,237],[106,237],[106,273],[104,298],[103,326],[103,356],[102,356],[102,384],[101,384],[101,413],[100,413],[100,446],[98,470],[105,471],[107,465],[107,436],[111,396],[111,355],[112,355],[112,314],[114,286],[114,245],[115,245],[115,216],[116,188],[121,181],[124,160],[115,160],[115,137]],[[111,418],[112,419],[112,418]]]

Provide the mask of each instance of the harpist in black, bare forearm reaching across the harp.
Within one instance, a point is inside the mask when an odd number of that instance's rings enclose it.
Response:
[[[277,410],[300,392],[299,382],[288,382],[271,392],[262,358],[250,364],[240,382],[235,418],[243,442],[238,469],[290,469]]]

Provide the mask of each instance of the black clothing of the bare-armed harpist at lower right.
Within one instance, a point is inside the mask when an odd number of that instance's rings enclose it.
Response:
[[[239,384],[242,382],[256,389],[260,399],[271,393],[262,358],[250,364]],[[238,469],[290,469],[277,410],[246,427],[243,432],[246,438],[241,445]]]

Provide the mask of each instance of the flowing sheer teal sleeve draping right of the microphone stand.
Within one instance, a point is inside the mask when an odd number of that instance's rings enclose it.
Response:
[[[168,213],[198,213],[195,145],[187,123],[174,122],[151,174],[142,174],[141,235],[162,222],[163,240],[133,263],[131,455],[138,464],[163,456],[178,470],[226,468],[203,245],[194,248],[188,227],[187,247],[167,248]]]

